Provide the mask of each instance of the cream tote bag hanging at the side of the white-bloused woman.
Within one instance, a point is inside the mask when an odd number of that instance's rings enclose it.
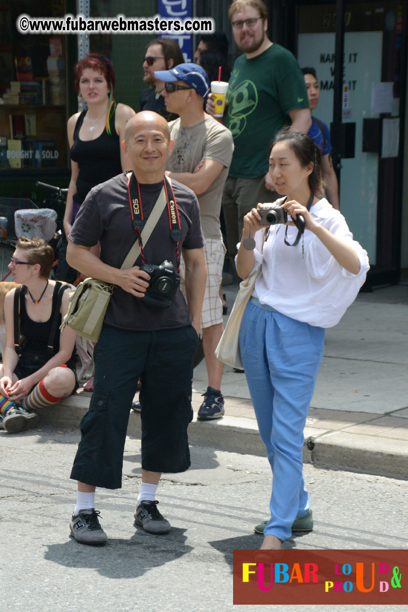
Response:
[[[224,334],[222,334],[215,351],[217,359],[240,370],[243,369],[239,342],[241,321],[246,305],[254,290],[255,280],[257,280],[259,274],[260,267],[254,270],[245,280],[241,281],[240,290],[236,295]]]

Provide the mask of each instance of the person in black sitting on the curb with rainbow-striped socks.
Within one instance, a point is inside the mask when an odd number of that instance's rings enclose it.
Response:
[[[0,368],[0,427],[32,428],[37,408],[58,403],[78,388],[75,332],[60,332],[68,285],[48,280],[54,251],[40,238],[19,238],[9,268],[20,287],[4,300],[6,349]]]

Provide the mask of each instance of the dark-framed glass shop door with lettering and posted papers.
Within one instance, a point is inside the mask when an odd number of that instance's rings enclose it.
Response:
[[[399,266],[395,248],[398,188],[387,177],[401,160],[399,111],[402,62],[402,4],[398,1],[356,2],[345,5],[341,129],[340,207],[355,238],[366,248],[371,266]],[[298,61],[312,66],[320,84],[314,115],[333,121],[336,5],[299,7]],[[401,58],[400,58],[401,59]],[[350,125],[347,125],[350,124]],[[391,163],[390,163],[391,160]],[[391,170],[391,174],[393,171]],[[387,185],[387,188],[385,188]],[[387,206],[387,215],[383,207]],[[387,232],[387,241],[384,232]],[[393,282],[393,281],[390,281]]]

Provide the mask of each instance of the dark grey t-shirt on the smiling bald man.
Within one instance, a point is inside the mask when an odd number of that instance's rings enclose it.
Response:
[[[141,184],[140,195],[143,217],[149,217],[161,192],[163,183]],[[205,244],[200,226],[200,209],[194,193],[172,181],[173,192],[181,223],[183,248],[202,248]],[[169,194],[170,198],[172,197]],[[100,242],[100,259],[108,266],[120,268],[136,240],[130,214],[126,173],[97,185],[86,196],[69,234],[70,241],[85,247]],[[146,263],[161,264],[164,259],[173,262],[176,270],[176,245],[170,236],[167,206],[162,212],[148,243],[143,245]],[[142,264],[139,255],[135,265]],[[128,330],[159,330],[184,327],[191,323],[186,300],[177,290],[169,308],[154,308],[143,304],[120,287],[115,287],[104,323]]]

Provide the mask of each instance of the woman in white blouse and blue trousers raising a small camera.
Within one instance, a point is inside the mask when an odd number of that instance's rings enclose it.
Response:
[[[292,529],[312,529],[302,473],[303,429],[324,328],[338,323],[369,269],[367,253],[353,241],[346,220],[322,198],[320,151],[312,139],[281,130],[269,162],[276,191],[286,195],[276,205],[294,219],[302,215],[305,230],[300,236],[292,221],[265,228],[253,208],[244,217],[236,256],[241,278],[261,266],[241,324],[240,351],[273,471],[271,518],[258,526],[263,529],[255,528],[263,531],[262,549],[280,548]]]

